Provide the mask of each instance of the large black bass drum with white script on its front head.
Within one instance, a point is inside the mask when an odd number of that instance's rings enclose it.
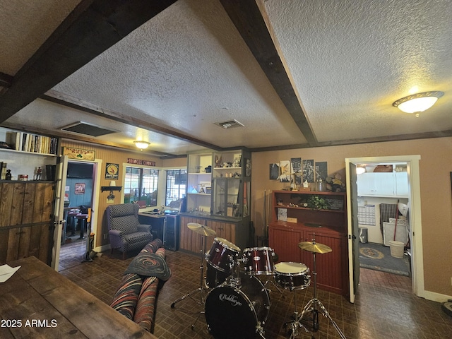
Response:
[[[261,280],[254,275],[239,275],[211,290],[206,298],[206,322],[216,339],[255,338],[263,332],[270,311],[270,298]]]

